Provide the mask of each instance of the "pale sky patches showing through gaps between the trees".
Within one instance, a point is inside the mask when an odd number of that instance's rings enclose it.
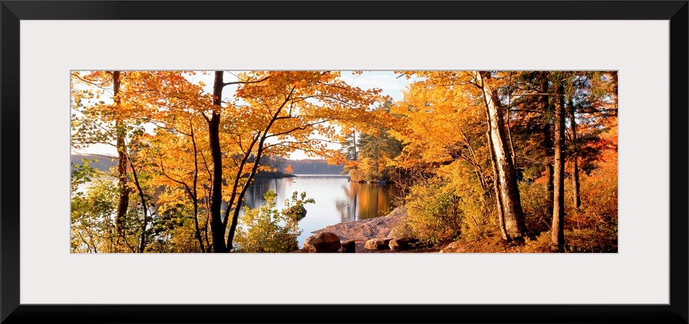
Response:
[[[201,75],[201,73],[197,73],[196,75],[194,75],[193,78],[194,81],[203,81],[206,84],[206,87],[204,89],[207,92],[213,92],[212,73],[208,75]],[[225,81],[228,82],[230,81],[230,79],[231,75],[226,73]],[[360,87],[362,89],[370,89],[374,87],[380,88],[382,90],[383,95],[389,95],[390,97],[392,97],[394,101],[403,99],[403,91],[406,85],[408,85],[409,82],[413,81],[413,79],[407,80],[404,76],[400,77],[399,74],[395,74],[393,71],[365,71],[361,75],[353,75],[352,72],[342,71],[342,80],[345,80],[345,82],[349,83],[349,85],[352,85],[354,87]],[[232,91],[233,89],[231,89],[230,87],[226,87],[225,89],[223,89],[223,95],[229,97]],[[332,148],[337,148],[337,145],[333,144]],[[117,155],[117,151],[113,146],[102,144],[95,145],[85,150],[73,150],[72,153],[87,153],[108,156]],[[292,154],[290,154],[289,158],[298,160],[312,157],[307,156],[303,151],[295,151]]]

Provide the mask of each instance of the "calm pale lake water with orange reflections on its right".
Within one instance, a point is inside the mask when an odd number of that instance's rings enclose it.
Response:
[[[244,204],[251,208],[265,205],[263,193],[275,190],[278,210],[292,193],[306,193],[314,204],[306,204],[306,217],[299,221],[302,247],[311,232],[328,225],[351,220],[366,220],[387,215],[396,205],[399,190],[392,184],[350,183],[347,175],[298,175],[295,178],[257,178],[248,189]]]

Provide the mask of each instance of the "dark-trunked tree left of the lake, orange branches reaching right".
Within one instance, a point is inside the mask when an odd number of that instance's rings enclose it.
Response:
[[[223,105],[221,90],[227,85],[238,85],[236,99]],[[252,71],[239,74],[238,81],[233,82],[224,82],[223,72],[215,72],[213,109],[210,116],[204,114],[209,124],[213,165],[210,217],[214,252],[231,250],[241,202],[264,155],[283,155],[295,149],[327,154],[326,143],[312,135],[335,138],[332,123],[370,119],[369,107],[379,100],[378,94],[379,90],[361,90],[348,85],[340,79],[340,72]],[[236,173],[228,178],[227,207],[221,213],[223,114],[233,117],[226,119],[227,124],[223,125],[226,129],[248,126],[250,131],[244,133],[246,138],[241,141],[233,140],[241,146],[240,151],[231,153],[226,149],[236,165]]]

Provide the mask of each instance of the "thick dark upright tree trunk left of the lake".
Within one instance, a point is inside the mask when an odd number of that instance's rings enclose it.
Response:
[[[223,72],[215,72],[213,85],[213,114],[208,121],[211,163],[213,163],[213,188],[211,189],[211,237],[213,252],[228,252],[225,246],[225,225],[221,219],[223,197],[223,156],[220,147],[220,111],[223,92]]]

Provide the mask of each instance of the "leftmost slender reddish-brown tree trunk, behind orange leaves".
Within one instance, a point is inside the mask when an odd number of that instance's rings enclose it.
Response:
[[[120,71],[112,72],[112,93],[115,97],[115,106],[120,109]],[[125,237],[125,217],[129,208],[129,188],[127,188],[127,144],[125,135],[127,130],[124,123],[118,117],[115,120],[115,132],[117,134],[117,188],[120,190],[120,200],[117,203],[117,215],[115,216],[115,229],[117,234],[124,239]]]

